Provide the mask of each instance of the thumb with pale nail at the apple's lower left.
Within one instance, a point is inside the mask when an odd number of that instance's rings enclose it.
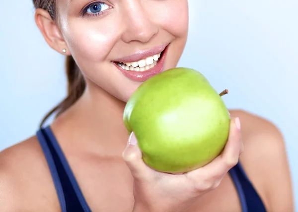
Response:
[[[138,146],[135,133],[132,132],[128,139],[128,144],[122,154],[124,161],[129,167],[134,178],[142,178],[146,172],[146,164],[142,159],[142,152]]]

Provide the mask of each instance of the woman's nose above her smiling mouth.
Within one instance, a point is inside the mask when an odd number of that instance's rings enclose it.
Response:
[[[121,38],[125,43],[132,41],[147,43],[157,34],[158,26],[142,5],[142,1],[134,2],[136,3],[129,4],[129,8],[123,14],[125,27]]]

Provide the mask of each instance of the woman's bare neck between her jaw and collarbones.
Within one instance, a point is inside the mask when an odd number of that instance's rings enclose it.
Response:
[[[96,154],[122,154],[129,136],[123,123],[125,104],[89,84],[74,106],[55,120],[52,129],[59,142],[70,142]]]

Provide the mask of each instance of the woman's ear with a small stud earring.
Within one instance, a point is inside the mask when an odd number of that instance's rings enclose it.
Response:
[[[37,8],[34,19],[44,39],[52,49],[64,55],[71,55],[57,23],[46,10]],[[64,49],[66,51],[63,51]]]

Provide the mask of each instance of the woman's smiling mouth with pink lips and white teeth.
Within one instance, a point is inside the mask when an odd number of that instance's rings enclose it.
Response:
[[[162,45],[145,52],[139,52],[114,61],[116,67],[127,78],[144,82],[163,71],[168,45]]]

